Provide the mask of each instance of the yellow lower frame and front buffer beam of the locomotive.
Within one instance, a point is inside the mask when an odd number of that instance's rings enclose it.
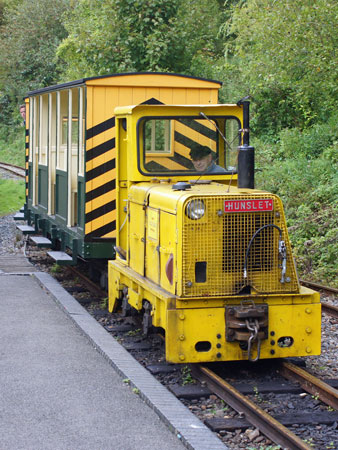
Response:
[[[193,301],[170,295],[138,276],[126,265],[109,261],[109,309],[115,306],[123,287],[128,287],[129,304],[142,309],[152,304],[152,322],[165,330],[166,360],[172,363],[247,360],[238,342],[226,342],[225,306],[239,305],[248,296],[198,298]],[[256,296],[256,304],[269,305],[269,338],[262,341],[260,357],[285,358],[320,354],[321,305],[318,293],[302,287],[299,294]],[[282,337],[293,339],[292,347],[280,347]],[[196,345],[210,342],[208,351]],[[256,356],[257,346],[253,348]]]

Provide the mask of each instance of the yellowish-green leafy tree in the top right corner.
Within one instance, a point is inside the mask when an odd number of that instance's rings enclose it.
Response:
[[[334,111],[337,18],[335,0],[248,0],[234,8],[222,30],[232,38],[227,68],[254,97],[260,132],[306,127]]]

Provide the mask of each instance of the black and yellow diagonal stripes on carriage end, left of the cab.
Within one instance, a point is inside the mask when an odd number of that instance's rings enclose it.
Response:
[[[86,241],[114,238],[116,230],[115,118],[86,132]]]

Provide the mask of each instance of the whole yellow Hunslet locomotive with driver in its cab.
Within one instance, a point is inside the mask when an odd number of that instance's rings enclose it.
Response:
[[[174,363],[319,354],[319,294],[299,285],[281,200],[253,188],[248,103],[115,115],[110,311],[163,328]]]

